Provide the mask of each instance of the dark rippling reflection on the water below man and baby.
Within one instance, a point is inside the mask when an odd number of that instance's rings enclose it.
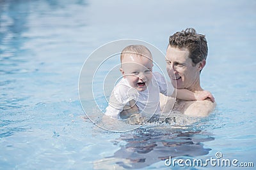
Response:
[[[202,131],[182,131],[182,129],[168,129],[168,131],[141,128],[121,134],[114,142],[114,145],[120,145],[120,149],[113,156],[95,162],[94,168],[138,169],[168,159],[170,156],[196,157],[207,155],[211,150],[204,148],[203,142],[212,141],[214,138]]]

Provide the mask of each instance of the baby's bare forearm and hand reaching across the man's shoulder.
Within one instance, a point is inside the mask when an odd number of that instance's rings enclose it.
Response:
[[[212,96],[211,92],[208,92],[206,90],[191,92],[187,89],[174,89],[172,97],[175,97],[176,92],[177,99],[182,99],[186,101],[204,101],[205,99],[209,98],[212,102],[214,102],[214,97]]]

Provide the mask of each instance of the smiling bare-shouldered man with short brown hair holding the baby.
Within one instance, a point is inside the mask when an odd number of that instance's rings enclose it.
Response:
[[[200,86],[200,73],[206,64],[207,53],[205,36],[196,34],[193,28],[170,36],[166,51],[166,69],[173,87],[195,93],[204,90]],[[164,113],[174,111],[193,117],[209,115],[216,105],[210,99],[184,101],[163,95],[160,96],[160,104]]]

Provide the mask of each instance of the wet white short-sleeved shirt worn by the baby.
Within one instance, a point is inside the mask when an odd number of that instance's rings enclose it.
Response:
[[[160,111],[159,93],[171,96],[174,89],[162,74],[154,72],[152,75],[147,89],[142,92],[132,88],[129,82],[122,78],[111,92],[105,114],[113,118],[120,118],[119,113],[125,105],[129,105],[129,101],[132,99],[136,101],[140,112],[152,114]]]

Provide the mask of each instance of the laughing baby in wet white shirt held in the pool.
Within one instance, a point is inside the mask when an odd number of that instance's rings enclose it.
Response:
[[[195,94],[186,89],[174,89],[162,74],[152,72],[152,54],[143,45],[125,47],[121,52],[120,60],[122,79],[111,92],[105,113],[110,117],[127,118],[127,115],[122,117],[120,113],[130,108],[143,114],[157,113],[160,111],[159,93],[172,97],[177,94],[177,99],[189,101],[204,100],[211,96],[207,91]]]

